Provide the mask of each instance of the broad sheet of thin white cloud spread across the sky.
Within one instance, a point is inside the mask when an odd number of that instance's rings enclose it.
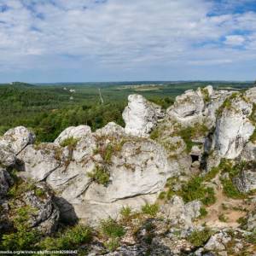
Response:
[[[245,46],[245,60],[256,50],[256,38],[233,34],[256,33],[256,14],[207,15],[214,1],[53,1],[0,0],[10,7],[0,13],[2,68],[218,65],[236,61],[232,46]]]

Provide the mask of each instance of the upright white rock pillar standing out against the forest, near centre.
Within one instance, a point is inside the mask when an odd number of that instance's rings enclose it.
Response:
[[[123,113],[125,132],[132,136],[148,137],[158,119],[163,117],[160,106],[148,102],[143,96],[131,95]]]

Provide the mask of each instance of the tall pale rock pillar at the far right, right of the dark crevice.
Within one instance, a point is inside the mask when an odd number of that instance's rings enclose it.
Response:
[[[235,159],[249,138],[254,126],[248,119],[253,110],[253,104],[241,96],[230,98],[217,121],[213,136],[212,148],[221,157]]]

